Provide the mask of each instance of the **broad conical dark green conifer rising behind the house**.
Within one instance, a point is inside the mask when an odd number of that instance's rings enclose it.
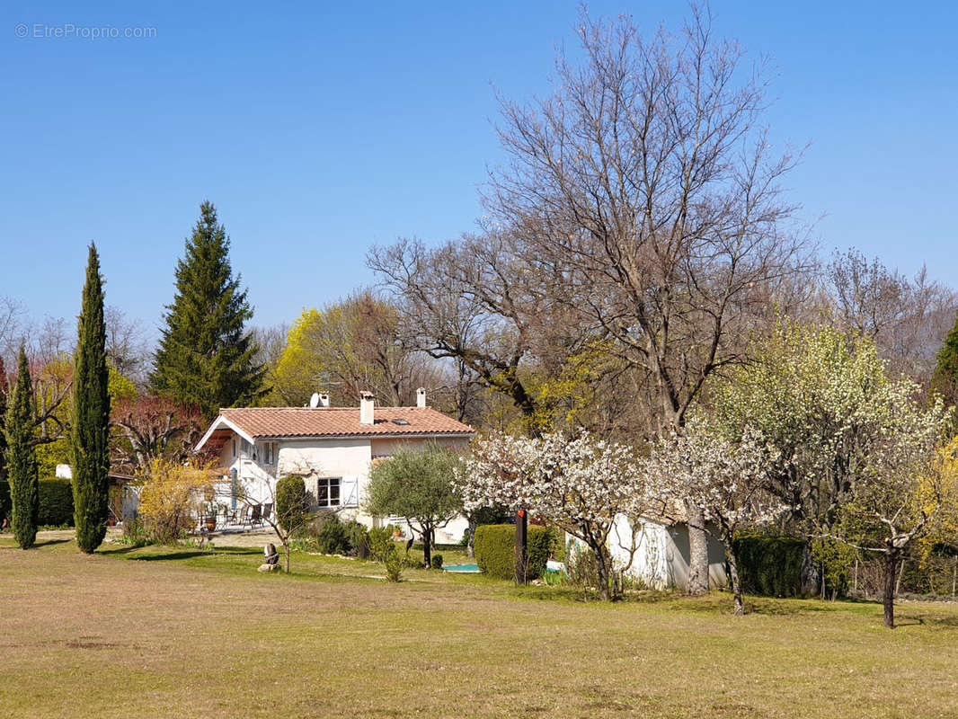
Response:
[[[186,256],[176,267],[176,294],[167,306],[150,376],[153,389],[199,406],[208,419],[223,406],[249,404],[262,393],[263,368],[243,332],[253,316],[229,262],[230,239],[209,201],[200,205]]]

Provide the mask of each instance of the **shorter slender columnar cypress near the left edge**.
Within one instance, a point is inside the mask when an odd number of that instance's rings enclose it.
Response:
[[[7,408],[7,468],[10,478],[11,526],[16,543],[27,549],[36,540],[40,489],[34,445],[34,387],[27,353],[20,345],[16,383]]]

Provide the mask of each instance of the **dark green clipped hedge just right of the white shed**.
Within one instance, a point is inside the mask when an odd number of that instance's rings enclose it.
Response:
[[[741,590],[764,596],[801,596],[805,543],[795,537],[735,540]]]

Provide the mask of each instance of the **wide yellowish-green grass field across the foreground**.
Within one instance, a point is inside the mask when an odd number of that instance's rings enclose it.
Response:
[[[42,540],[41,540],[42,542]],[[460,557],[446,555],[446,562]],[[0,540],[6,717],[958,717],[958,608],[570,591]]]

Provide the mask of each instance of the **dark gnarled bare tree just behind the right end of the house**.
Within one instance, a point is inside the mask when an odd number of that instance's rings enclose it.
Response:
[[[522,243],[489,227],[437,249],[410,240],[374,247],[367,262],[396,297],[405,341],[454,363],[462,413],[481,385],[508,397],[535,434],[541,403],[531,370],[555,370],[590,336],[556,301],[560,278]]]

